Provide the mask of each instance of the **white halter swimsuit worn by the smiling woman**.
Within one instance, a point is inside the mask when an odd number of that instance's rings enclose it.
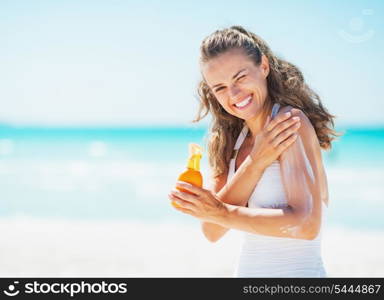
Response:
[[[276,104],[275,104],[276,106]],[[279,106],[274,106],[277,112]],[[248,133],[244,126],[231,159],[228,180],[235,173],[237,152]],[[287,200],[280,174],[280,164],[274,161],[263,173],[251,197],[250,208],[282,208]],[[323,203],[323,217],[325,204]],[[323,224],[322,224],[323,226]],[[313,240],[281,238],[243,232],[244,238],[238,257],[235,277],[326,277],[321,258],[321,229]]]

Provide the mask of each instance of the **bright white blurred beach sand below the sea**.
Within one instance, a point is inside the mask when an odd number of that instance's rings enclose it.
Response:
[[[199,223],[0,219],[1,277],[231,277],[241,235],[210,243]],[[384,277],[383,232],[325,229],[330,277]]]

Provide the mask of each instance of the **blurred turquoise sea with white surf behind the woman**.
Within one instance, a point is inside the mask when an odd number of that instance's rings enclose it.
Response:
[[[323,152],[328,223],[384,229],[384,128],[339,128]],[[0,216],[190,222],[167,194],[206,128],[0,125]],[[207,157],[202,172],[209,176]],[[206,181],[207,183],[207,181]]]

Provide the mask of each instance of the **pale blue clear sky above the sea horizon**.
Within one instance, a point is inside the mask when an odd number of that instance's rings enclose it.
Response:
[[[187,125],[201,40],[242,25],[338,124],[384,124],[383,1],[0,1],[0,123]]]

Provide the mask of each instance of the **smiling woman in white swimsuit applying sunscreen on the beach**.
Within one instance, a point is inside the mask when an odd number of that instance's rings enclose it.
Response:
[[[296,66],[240,26],[204,39],[201,72],[196,121],[212,114],[214,184],[207,190],[178,182],[192,194],[175,189],[169,199],[200,219],[212,242],[231,228],[244,232],[237,277],[325,277],[320,150],[336,135],[334,117]]]

